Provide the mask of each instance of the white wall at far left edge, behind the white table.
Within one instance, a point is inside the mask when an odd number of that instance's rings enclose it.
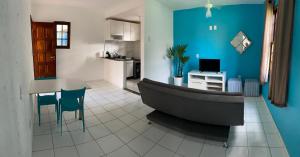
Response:
[[[30,0],[0,1],[0,156],[31,157]]]

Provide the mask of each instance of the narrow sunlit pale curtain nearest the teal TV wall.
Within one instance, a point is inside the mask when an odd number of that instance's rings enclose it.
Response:
[[[260,83],[267,83],[269,80],[269,70],[270,70],[270,59],[273,43],[274,34],[274,6],[271,0],[266,2],[266,17],[265,17],[265,31],[262,49],[262,60],[260,67]]]

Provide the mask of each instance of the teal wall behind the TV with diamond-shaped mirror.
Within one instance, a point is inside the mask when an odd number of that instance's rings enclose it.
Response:
[[[199,69],[200,58],[221,59],[221,70],[227,78],[241,75],[243,78],[258,78],[265,18],[265,6],[232,5],[213,9],[212,18],[205,17],[205,8],[174,11],[174,45],[188,44],[187,55],[191,57],[184,69],[187,73]],[[217,25],[217,31],[210,31]],[[243,31],[252,41],[246,52],[240,55],[230,44]]]

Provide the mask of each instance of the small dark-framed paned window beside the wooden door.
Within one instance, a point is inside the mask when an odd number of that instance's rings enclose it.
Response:
[[[56,25],[56,48],[69,49],[71,36],[70,22],[55,22]]]

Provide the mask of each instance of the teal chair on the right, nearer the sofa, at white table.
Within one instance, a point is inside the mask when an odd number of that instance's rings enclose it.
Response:
[[[61,119],[61,135],[62,135],[62,116],[64,111],[75,111],[79,110],[82,118],[83,132],[85,132],[84,122],[84,95],[86,88],[78,90],[61,90],[61,98],[59,99],[59,113]]]

